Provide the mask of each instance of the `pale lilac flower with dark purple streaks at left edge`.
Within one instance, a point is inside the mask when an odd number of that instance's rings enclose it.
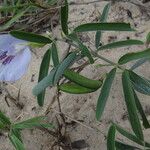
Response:
[[[9,34],[0,35],[0,81],[16,81],[26,72],[31,60],[27,42]]]

